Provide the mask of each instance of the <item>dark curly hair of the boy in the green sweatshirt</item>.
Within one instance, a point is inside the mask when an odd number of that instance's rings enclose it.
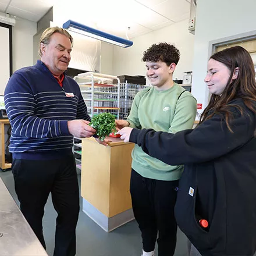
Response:
[[[177,63],[180,59],[180,51],[173,45],[167,42],[160,42],[159,44],[152,44],[147,51],[143,52],[143,62],[165,62],[166,65]]]

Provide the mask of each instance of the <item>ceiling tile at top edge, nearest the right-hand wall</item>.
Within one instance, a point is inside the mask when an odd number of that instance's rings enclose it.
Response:
[[[159,5],[154,6],[156,12],[161,13],[161,15],[167,17],[170,20],[177,19],[184,13],[190,12],[190,3],[186,0],[166,0],[165,2],[159,3]]]

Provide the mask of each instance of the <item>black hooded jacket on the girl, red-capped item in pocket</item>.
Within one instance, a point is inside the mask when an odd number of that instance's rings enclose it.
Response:
[[[133,129],[130,141],[169,165],[184,163],[175,215],[202,255],[253,255],[256,250],[256,115],[241,101],[230,106],[229,131],[221,113],[176,134]],[[203,229],[198,219],[207,219]]]

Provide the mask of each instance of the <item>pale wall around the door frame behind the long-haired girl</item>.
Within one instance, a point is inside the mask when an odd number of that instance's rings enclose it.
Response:
[[[255,0],[197,0],[192,94],[203,109],[208,104],[207,70],[209,41],[255,30]]]

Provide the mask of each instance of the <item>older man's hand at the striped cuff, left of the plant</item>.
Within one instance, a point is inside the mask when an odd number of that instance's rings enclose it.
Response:
[[[93,136],[96,132],[93,127],[88,125],[89,123],[89,121],[82,119],[67,121],[67,128],[74,137],[88,138]]]

